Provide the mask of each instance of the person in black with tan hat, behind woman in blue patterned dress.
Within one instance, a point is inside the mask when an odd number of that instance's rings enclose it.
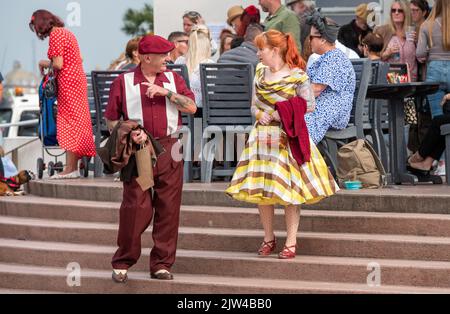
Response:
[[[362,3],[356,7],[356,18],[349,24],[343,25],[339,29],[338,40],[346,47],[356,51],[363,58],[360,39],[364,38],[372,29],[367,25],[367,17],[372,11],[367,9],[367,3]]]

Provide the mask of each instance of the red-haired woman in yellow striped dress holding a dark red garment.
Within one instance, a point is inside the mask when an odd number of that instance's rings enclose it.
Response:
[[[257,122],[226,193],[237,200],[258,204],[264,228],[259,256],[268,256],[275,250],[274,205],[285,206],[287,237],[278,257],[290,259],[296,254],[299,205],[318,202],[333,195],[338,187],[316,146],[309,140],[304,119],[303,129],[296,130],[300,131],[299,137],[306,137],[303,141],[306,147],[300,147],[305,152],[303,160],[295,154],[292,136],[286,140],[290,132],[281,104],[291,101],[299,104],[288,117],[291,120],[297,120],[294,118],[299,110],[302,110],[301,118],[305,111],[311,112],[315,107],[314,92],[304,72],[305,61],[298,53],[293,36],[269,30],[258,35],[255,44],[261,60],[256,67],[252,100],[252,113]],[[294,124],[297,122],[300,121]]]

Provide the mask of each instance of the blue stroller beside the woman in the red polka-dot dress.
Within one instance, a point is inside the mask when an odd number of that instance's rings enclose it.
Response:
[[[47,84],[53,84],[51,80],[55,80],[55,78],[50,74],[46,74],[39,85],[40,115],[38,132],[42,143],[42,157],[37,160],[37,175],[39,179],[42,179],[45,169],[47,169],[48,175],[52,176],[55,174],[55,171],[61,172],[64,168],[63,163],[58,161],[58,157],[64,155],[65,152],[60,154],[53,154],[50,152],[51,150],[60,149],[58,140],[56,139],[56,93],[53,93],[52,95],[52,93],[49,93],[45,89]],[[54,157],[55,161],[50,161],[48,164],[45,164],[45,152]]]

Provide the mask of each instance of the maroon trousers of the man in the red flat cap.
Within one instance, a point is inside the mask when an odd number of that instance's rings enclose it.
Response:
[[[150,272],[170,270],[175,262],[178,226],[183,188],[183,161],[171,156],[176,139],[160,140],[166,152],[158,157],[153,169],[155,186],[142,191],[136,178],[123,184],[120,207],[119,236],[112,259],[114,269],[128,269],[141,255],[141,235],[153,220],[153,249],[150,254]]]

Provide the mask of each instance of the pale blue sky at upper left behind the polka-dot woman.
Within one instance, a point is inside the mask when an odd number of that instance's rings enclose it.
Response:
[[[46,58],[48,40],[39,40],[28,28],[38,9],[60,16],[66,25],[74,24],[67,28],[78,39],[85,71],[105,69],[129,39],[120,30],[126,9],[140,9],[145,3],[153,0],[0,0],[0,71],[5,75],[18,60],[25,70],[37,72],[33,60]]]

